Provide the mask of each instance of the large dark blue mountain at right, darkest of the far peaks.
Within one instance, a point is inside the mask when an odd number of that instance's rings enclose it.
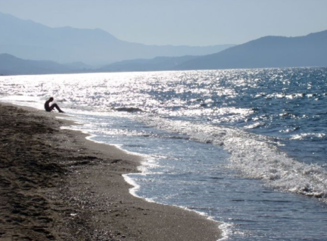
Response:
[[[265,36],[186,61],[175,70],[308,66],[327,66],[327,30],[298,37]]]

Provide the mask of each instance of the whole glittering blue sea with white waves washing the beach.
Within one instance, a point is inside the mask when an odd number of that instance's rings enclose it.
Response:
[[[1,76],[92,140],[145,156],[131,193],[222,222],[224,240],[327,240],[327,68]]]

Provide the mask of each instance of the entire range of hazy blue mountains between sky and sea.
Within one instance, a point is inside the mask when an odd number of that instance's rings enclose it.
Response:
[[[120,41],[103,30],[48,28],[0,13],[0,32],[0,74],[327,66],[327,30],[297,37],[265,36],[230,48],[148,46]],[[206,51],[211,54],[200,56]],[[97,61],[107,64],[85,64]]]

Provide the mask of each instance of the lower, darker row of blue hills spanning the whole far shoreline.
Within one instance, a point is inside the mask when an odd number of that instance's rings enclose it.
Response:
[[[299,37],[266,36],[207,56],[135,59],[98,69],[81,62],[63,65],[0,54],[0,75],[310,66],[327,66],[327,30]]]

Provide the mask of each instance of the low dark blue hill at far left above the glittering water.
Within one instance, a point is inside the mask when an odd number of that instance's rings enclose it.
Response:
[[[10,54],[0,54],[0,75],[19,74],[67,74],[82,72],[78,68],[52,61],[30,61]]]

